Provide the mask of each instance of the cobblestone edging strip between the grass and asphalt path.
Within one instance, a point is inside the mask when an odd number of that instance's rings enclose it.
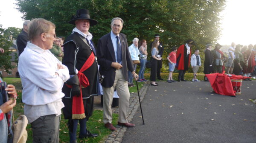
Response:
[[[148,90],[150,82],[146,81],[143,87],[140,89],[140,101],[143,100],[144,95]],[[137,112],[137,109],[140,107],[138,93],[130,93],[130,103],[128,108],[128,122],[131,122],[134,115]],[[119,108],[117,108],[114,112],[118,113]],[[135,126],[136,127],[136,126]],[[105,143],[121,143],[122,138],[125,135],[127,127],[126,126],[116,126],[116,131],[111,132],[111,134],[106,139]]]

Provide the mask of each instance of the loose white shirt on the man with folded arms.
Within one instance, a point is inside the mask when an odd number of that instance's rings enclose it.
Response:
[[[29,123],[44,115],[61,115],[61,108],[64,107],[61,89],[70,76],[65,65],[61,64],[64,69],[58,70],[57,64],[61,62],[49,50],[30,41],[20,54],[18,71],[23,87],[24,115]]]

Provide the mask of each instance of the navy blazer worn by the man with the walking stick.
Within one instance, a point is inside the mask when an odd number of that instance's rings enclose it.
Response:
[[[122,73],[128,80],[128,69],[134,71],[134,66],[128,50],[128,43],[125,34],[120,33],[120,42],[122,47]],[[115,51],[111,40],[111,33],[102,36],[97,45],[97,59],[99,64],[99,73],[104,76],[103,87],[112,87],[115,80],[116,68],[111,67],[112,62],[116,62]]]

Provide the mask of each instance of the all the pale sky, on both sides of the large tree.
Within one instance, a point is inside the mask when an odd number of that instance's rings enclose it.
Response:
[[[22,14],[15,9],[15,0],[0,0],[0,24],[2,28],[22,28]],[[3,4],[4,3],[4,4]],[[231,45],[256,44],[256,0],[227,0],[225,10],[220,14],[221,37],[218,43]]]

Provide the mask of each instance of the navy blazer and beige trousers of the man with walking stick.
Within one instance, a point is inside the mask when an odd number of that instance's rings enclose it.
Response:
[[[122,48],[122,68],[116,70],[111,67],[112,62],[116,62],[116,55],[111,39],[111,33],[102,36],[98,41],[97,59],[99,72],[104,76],[103,88],[103,122],[112,122],[111,104],[113,92],[116,89],[119,95],[119,119],[120,123],[127,123],[127,111],[129,106],[130,93],[128,89],[128,69],[134,71],[134,66],[128,51],[128,43],[125,34],[120,33],[119,39]]]

